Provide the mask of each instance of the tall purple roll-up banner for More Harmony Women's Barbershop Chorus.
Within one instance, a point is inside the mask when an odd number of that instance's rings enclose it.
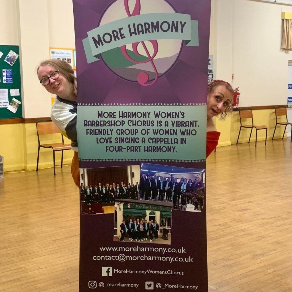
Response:
[[[208,291],[211,0],[73,0],[79,291]]]

